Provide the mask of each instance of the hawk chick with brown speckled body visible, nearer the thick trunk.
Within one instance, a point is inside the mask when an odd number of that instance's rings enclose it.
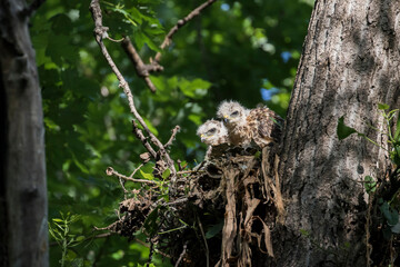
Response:
[[[249,146],[253,140],[263,148],[279,139],[282,118],[267,107],[247,109],[236,101],[223,101],[217,112],[228,128],[229,142]]]

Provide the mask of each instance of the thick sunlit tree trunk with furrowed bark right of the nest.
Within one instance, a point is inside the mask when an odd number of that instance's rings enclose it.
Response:
[[[386,146],[378,103],[400,107],[400,6],[317,0],[291,97],[280,157],[284,227],[278,266],[366,266],[367,198],[386,151],[360,137],[339,141],[338,119]]]

